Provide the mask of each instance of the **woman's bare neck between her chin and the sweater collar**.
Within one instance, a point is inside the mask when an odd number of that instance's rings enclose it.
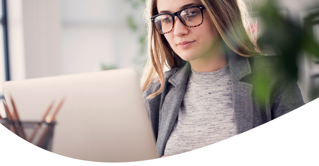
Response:
[[[215,72],[228,64],[226,52],[219,42],[217,48],[212,48],[206,56],[189,61],[195,72]]]

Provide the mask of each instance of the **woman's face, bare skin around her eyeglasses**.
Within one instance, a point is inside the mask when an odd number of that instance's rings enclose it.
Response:
[[[174,13],[187,4],[202,5],[198,0],[157,0],[157,10],[159,14]],[[219,33],[206,10],[203,10],[204,19],[200,26],[186,27],[175,16],[174,30],[164,34],[174,52],[183,60],[205,59],[213,54],[213,45],[217,41]]]

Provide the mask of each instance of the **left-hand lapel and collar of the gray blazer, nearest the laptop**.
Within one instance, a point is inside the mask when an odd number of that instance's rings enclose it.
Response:
[[[174,88],[165,96],[163,107],[159,112],[159,135],[156,142],[159,156],[164,155],[166,142],[181,107],[190,71],[190,64],[187,62],[168,80]]]

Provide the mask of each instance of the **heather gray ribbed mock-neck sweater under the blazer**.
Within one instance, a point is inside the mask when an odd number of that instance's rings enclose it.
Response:
[[[164,155],[202,148],[237,135],[229,66],[209,73],[192,70]]]

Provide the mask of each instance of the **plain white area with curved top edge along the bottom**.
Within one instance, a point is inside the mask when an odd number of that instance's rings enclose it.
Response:
[[[60,156],[0,125],[0,165],[314,165],[319,163],[318,107],[319,98],[224,141],[175,156],[130,163]]]

